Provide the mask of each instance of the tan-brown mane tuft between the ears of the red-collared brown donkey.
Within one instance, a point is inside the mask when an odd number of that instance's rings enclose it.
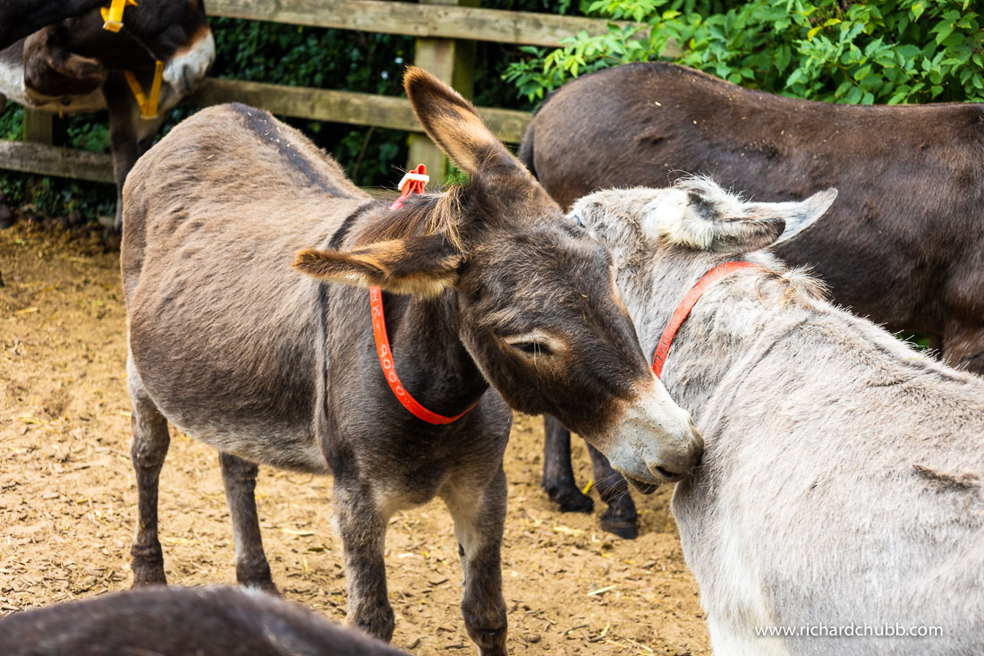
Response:
[[[463,188],[454,186],[441,194],[419,194],[406,199],[399,210],[387,210],[361,221],[352,230],[351,243],[364,246],[379,241],[443,233],[461,253],[459,219]]]

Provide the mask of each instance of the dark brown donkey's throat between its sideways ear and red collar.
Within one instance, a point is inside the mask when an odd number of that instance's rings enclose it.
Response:
[[[459,338],[457,292],[436,298],[384,293],[383,308],[397,374],[421,405],[453,417],[485,393],[489,384]]]

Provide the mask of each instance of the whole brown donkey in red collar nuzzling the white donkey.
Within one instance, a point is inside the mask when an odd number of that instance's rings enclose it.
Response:
[[[184,121],[128,178],[134,583],[164,582],[156,502],[170,421],[220,451],[245,585],[274,589],[254,463],[334,475],[349,621],[384,639],[388,519],[441,496],[461,545],[468,634],[501,654],[510,408],[576,426],[642,487],[683,477],[702,440],[636,344],[607,250],[454,91],[419,69],[405,86],[427,134],[470,176],[463,187],[391,210],[300,133],[240,104]],[[366,286],[384,291],[405,390],[446,417],[476,404],[460,420],[428,424],[395,398]]]

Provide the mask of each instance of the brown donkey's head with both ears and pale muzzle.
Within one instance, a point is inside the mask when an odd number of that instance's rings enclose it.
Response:
[[[389,292],[449,295],[461,344],[516,410],[549,413],[631,480],[677,480],[703,442],[655,379],[615,287],[608,251],[560,208],[474,107],[411,68],[407,96],[469,182],[356,229],[354,247],[295,266]]]

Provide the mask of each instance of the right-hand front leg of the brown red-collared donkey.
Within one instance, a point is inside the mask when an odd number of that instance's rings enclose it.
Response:
[[[461,616],[482,656],[506,653],[506,602],[502,596],[502,534],[506,523],[506,472],[485,488],[460,486],[445,495],[455,519],[464,594]]]

